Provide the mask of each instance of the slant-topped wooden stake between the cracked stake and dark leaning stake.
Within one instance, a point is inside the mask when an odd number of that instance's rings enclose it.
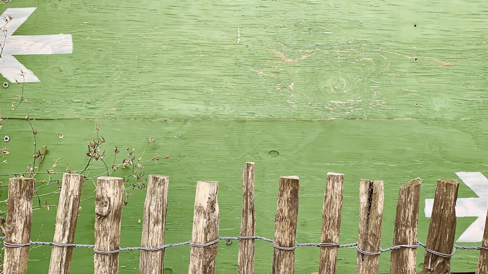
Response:
[[[416,178],[400,187],[393,245],[417,244],[420,184]],[[390,274],[417,274],[417,249],[402,247],[391,251]]]

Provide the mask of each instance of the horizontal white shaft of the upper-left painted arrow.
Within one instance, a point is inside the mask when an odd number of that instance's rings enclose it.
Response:
[[[70,54],[73,41],[70,34],[7,37],[3,55]],[[15,45],[10,47],[10,44]]]

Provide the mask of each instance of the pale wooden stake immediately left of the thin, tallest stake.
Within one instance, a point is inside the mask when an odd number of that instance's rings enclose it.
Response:
[[[206,244],[219,238],[219,182],[197,182],[193,213],[192,244]],[[188,274],[214,274],[219,243],[190,248]]]

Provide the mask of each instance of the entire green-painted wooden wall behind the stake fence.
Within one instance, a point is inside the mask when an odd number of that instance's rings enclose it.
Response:
[[[433,198],[436,180],[459,179],[459,171],[488,174],[484,1],[12,0],[0,11],[24,7],[37,9],[13,36],[70,34],[73,49],[15,55],[39,82],[24,84],[29,102],[0,129],[10,138],[2,144],[10,152],[0,165],[2,200],[6,179],[33,160],[26,113],[36,119],[37,148],[49,149],[40,171],[60,158],[56,172],[67,165],[83,169],[95,125],[107,141],[107,162],[115,146],[135,146],[139,156],[153,138],[143,159],[159,153],[161,160],[141,171],[170,176],[167,243],[191,236],[197,180],[220,181],[220,234],[239,234],[246,161],[256,162],[256,233],[264,237],[273,237],[280,176],[301,179],[301,242],[320,240],[327,172],[346,174],[341,243],[357,240],[359,180],[384,180],[383,247],[391,245],[403,183],[423,180],[419,240],[425,242],[424,200]],[[21,46],[9,38],[6,49]],[[0,58],[3,71],[10,69],[6,59]],[[5,118],[21,90],[12,83],[0,89]],[[40,187],[48,175],[36,178]],[[94,188],[87,181],[83,198]],[[145,190],[131,192],[122,246],[140,244]],[[461,182],[459,198],[470,197],[477,194]],[[41,208],[34,212],[33,239],[52,240],[56,208],[45,205],[57,199],[35,200]],[[94,200],[81,207],[75,241],[93,243]],[[456,239],[475,219],[458,218]],[[217,273],[236,272],[237,251],[237,242],[221,242]],[[50,252],[33,248],[29,273],[47,272]],[[452,271],[473,271],[478,254],[456,252]],[[318,255],[317,248],[297,249],[296,273],[317,271]],[[418,255],[421,268],[422,249]],[[388,256],[381,255],[382,272],[389,271]],[[186,273],[188,257],[188,246],[167,249],[165,274]],[[256,273],[270,273],[271,261],[272,245],[257,242]],[[355,263],[355,250],[339,251],[339,273],[354,272]],[[138,264],[137,252],[121,254],[121,273],[137,272]],[[75,249],[72,273],[92,269],[93,251]]]

